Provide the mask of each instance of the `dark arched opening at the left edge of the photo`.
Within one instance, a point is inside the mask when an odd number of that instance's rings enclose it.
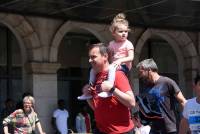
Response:
[[[9,114],[8,111],[2,113],[5,101],[11,99],[13,101],[12,110],[14,110],[15,104],[21,99],[22,88],[22,57],[20,46],[14,34],[7,27],[0,25],[1,122],[2,118]],[[2,129],[0,133],[2,133]]]

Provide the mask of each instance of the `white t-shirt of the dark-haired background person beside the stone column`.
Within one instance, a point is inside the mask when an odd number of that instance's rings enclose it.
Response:
[[[67,110],[60,110],[57,109],[53,113],[53,117],[56,118],[56,126],[57,129],[60,131],[61,134],[67,134],[68,133],[68,127],[67,127],[67,119],[69,117],[69,113]]]

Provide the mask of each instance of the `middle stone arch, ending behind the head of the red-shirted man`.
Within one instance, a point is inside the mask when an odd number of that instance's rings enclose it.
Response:
[[[104,25],[68,21],[59,28],[59,30],[56,32],[53,38],[52,44],[50,46],[51,47],[50,56],[49,56],[50,62],[57,61],[59,44],[61,43],[65,34],[74,28],[87,30],[91,32],[94,36],[96,36],[101,42],[106,42],[106,39],[104,35],[102,34],[105,29]]]

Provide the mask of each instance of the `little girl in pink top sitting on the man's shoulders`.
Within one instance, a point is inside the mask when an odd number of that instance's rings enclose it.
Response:
[[[129,23],[123,13],[119,13],[114,17],[110,31],[114,37],[114,40],[109,43],[109,49],[113,52],[112,64],[109,66],[108,81],[114,85],[115,71],[122,70],[125,74],[132,68],[132,61],[134,59],[134,47],[133,44],[127,39],[129,29]],[[95,83],[95,75],[93,69],[90,71],[90,86]],[[106,98],[111,96],[109,92],[100,92],[98,96]],[[79,100],[86,100],[92,98],[92,95],[83,94],[79,96]]]

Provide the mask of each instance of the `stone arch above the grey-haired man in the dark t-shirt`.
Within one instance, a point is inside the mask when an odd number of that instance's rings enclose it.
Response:
[[[153,35],[159,36],[169,43],[174,50],[178,62],[178,76],[180,87],[186,90],[188,87],[187,79],[192,79],[193,76],[188,77],[185,70],[196,70],[198,68],[197,52],[194,44],[189,36],[182,31],[170,31],[159,29],[147,29],[138,40],[135,49],[135,64],[139,62],[139,55],[145,42]],[[189,63],[189,64],[188,64]],[[185,91],[186,92],[186,91]]]

